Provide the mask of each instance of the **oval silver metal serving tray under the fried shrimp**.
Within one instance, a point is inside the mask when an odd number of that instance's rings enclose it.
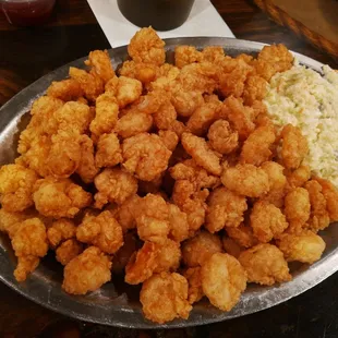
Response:
[[[173,60],[173,49],[177,45],[193,45],[197,48],[219,45],[224,46],[230,56],[242,52],[255,55],[264,46],[264,44],[222,37],[172,38],[166,40],[169,62]],[[126,59],[126,47],[111,49],[109,53],[116,68]],[[294,53],[294,56],[300,63],[322,73],[322,63],[299,53]],[[51,81],[67,77],[71,65],[84,68],[85,59],[79,59],[39,79],[0,109],[0,165],[14,160],[19,133],[28,122],[27,112],[33,100],[45,93]],[[4,234],[0,236],[0,280],[43,306],[86,322],[133,328],[173,328],[202,325],[243,316],[277,305],[333,275],[338,269],[338,227],[331,226],[321,234],[326,242],[322,259],[311,266],[291,265],[293,273],[291,281],[273,287],[250,285],[241,301],[228,313],[215,309],[207,301],[202,301],[195,304],[188,321],[177,319],[166,325],[146,321],[142,315],[138,302],[140,288],[124,285],[121,279],[114,276],[112,282],[87,295],[67,294],[61,289],[62,267],[53,259],[52,255],[44,258],[37,270],[25,282],[19,283],[13,277],[16,258],[10,241]]]

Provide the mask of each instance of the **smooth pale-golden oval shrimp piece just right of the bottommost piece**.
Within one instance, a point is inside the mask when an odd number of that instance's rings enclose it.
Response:
[[[230,311],[246,289],[246,273],[241,264],[226,253],[215,253],[201,268],[202,288],[210,303]]]

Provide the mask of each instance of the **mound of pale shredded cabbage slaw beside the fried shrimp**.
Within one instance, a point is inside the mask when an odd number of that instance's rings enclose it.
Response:
[[[311,170],[338,186],[338,73],[323,67],[324,76],[295,63],[270,80],[264,99],[273,121],[302,130]]]

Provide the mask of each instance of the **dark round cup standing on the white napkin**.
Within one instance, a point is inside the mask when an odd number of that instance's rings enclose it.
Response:
[[[195,0],[118,0],[121,13],[138,27],[169,31],[188,19]]]

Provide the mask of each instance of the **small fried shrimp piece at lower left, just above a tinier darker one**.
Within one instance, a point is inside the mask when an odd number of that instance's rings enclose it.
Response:
[[[74,221],[67,218],[55,220],[47,230],[47,238],[51,248],[57,248],[62,241],[74,238],[75,234]]]

